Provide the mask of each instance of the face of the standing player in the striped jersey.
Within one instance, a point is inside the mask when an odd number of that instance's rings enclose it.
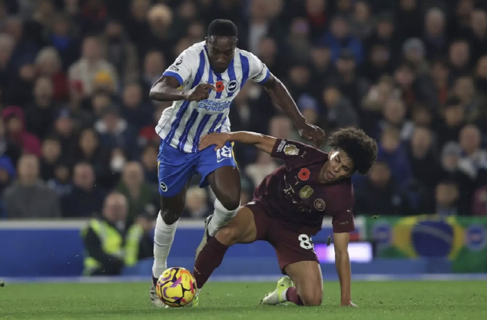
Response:
[[[237,42],[234,37],[212,36],[207,38],[208,59],[216,72],[225,72],[232,61]]]

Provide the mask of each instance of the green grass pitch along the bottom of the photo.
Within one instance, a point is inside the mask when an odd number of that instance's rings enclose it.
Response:
[[[261,306],[276,283],[209,282],[194,308],[150,305],[148,283],[10,284],[0,289],[0,319],[487,319],[487,282],[353,282],[338,307],[339,285],[325,282],[320,307]]]

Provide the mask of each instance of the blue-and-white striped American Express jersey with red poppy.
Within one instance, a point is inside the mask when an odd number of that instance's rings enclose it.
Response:
[[[183,90],[200,83],[211,83],[217,90],[210,90],[208,99],[200,102],[175,101],[163,111],[157,134],[179,150],[198,152],[198,143],[205,134],[230,131],[230,104],[246,81],[265,83],[269,74],[257,56],[238,48],[227,70],[214,72],[205,42],[196,43],[184,50],[163,75],[175,77]]]

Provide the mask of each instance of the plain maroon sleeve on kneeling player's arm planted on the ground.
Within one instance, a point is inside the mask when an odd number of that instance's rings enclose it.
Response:
[[[352,232],[355,230],[353,221],[353,186],[346,184],[334,197],[337,199],[333,207],[327,208],[327,213],[332,216],[331,224],[333,232]]]

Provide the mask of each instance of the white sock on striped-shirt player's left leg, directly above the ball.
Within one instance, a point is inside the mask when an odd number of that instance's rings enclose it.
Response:
[[[168,269],[167,260],[176,227],[177,221],[172,225],[166,225],[162,220],[161,211],[159,211],[154,232],[154,264],[152,265],[152,275],[156,278],[159,278],[159,275]]]

